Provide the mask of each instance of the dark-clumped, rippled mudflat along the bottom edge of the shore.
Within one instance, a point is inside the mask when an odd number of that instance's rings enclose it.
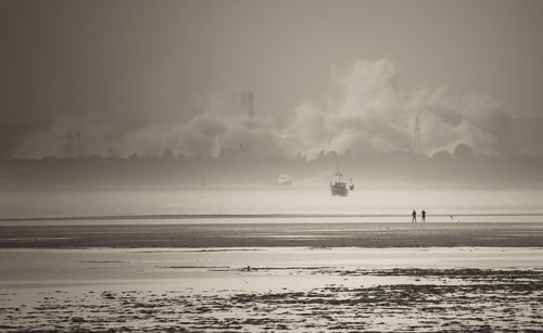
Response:
[[[389,272],[380,271],[383,278]],[[394,271],[424,284],[330,284],[308,291],[236,292],[112,289],[40,292],[34,306],[2,308],[4,331],[528,331],[541,330],[543,273]],[[429,274],[429,276],[426,276]],[[438,274],[438,278],[433,276]],[[483,277],[483,283],[475,277]],[[349,274],[345,274],[349,277]],[[447,285],[447,283],[453,283]],[[17,297],[3,292],[0,302]]]

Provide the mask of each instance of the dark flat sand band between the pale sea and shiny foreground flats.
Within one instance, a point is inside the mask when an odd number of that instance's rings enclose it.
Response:
[[[541,222],[0,225],[0,247],[543,246]]]

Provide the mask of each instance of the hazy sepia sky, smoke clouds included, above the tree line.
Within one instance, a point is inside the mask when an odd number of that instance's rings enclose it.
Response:
[[[55,154],[66,127],[88,153],[406,149],[420,113],[429,152],[515,151],[542,31],[535,0],[0,0],[0,156]],[[239,90],[254,119],[227,115]]]

